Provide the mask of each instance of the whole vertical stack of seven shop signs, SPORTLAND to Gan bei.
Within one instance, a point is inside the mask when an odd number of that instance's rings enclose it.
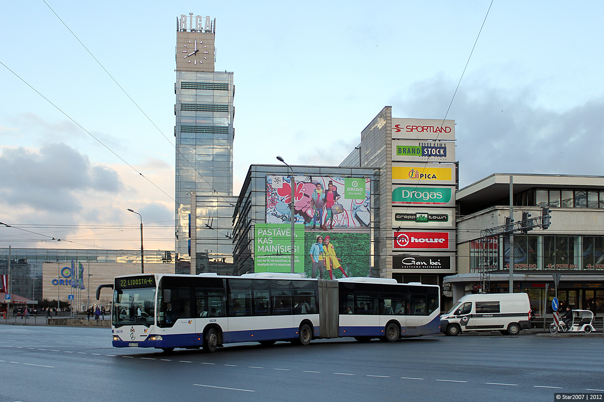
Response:
[[[392,119],[393,272],[455,272],[455,122]]]

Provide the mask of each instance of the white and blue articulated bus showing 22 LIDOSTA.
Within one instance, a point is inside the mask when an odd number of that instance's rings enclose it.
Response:
[[[440,332],[439,286],[298,274],[139,274],[115,278],[114,347],[203,348],[350,336],[366,342]]]

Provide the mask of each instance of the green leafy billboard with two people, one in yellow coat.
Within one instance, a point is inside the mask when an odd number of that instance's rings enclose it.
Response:
[[[304,274],[307,278],[369,276],[369,233],[306,231],[304,250]]]

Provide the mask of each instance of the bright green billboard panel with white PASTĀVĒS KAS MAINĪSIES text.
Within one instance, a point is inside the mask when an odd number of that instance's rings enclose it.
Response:
[[[254,271],[291,272],[291,224],[254,225]],[[294,227],[294,272],[304,271],[304,225]]]

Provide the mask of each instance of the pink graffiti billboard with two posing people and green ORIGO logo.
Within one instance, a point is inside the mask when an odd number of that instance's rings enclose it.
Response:
[[[306,230],[352,228],[370,225],[370,186],[364,177],[295,177],[295,222]],[[266,222],[290,220],[291,177],[266,176]]]

